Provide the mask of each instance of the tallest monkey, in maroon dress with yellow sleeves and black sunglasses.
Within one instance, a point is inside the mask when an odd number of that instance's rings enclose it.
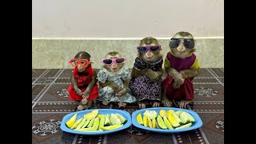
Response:
[[[162,103],[186,109],[194,101],[192,80],[201,70],[194,54],[194,37],[188,32],[178,32],[170,39],[169,46],[164,62],[168,75],[162,82]]]

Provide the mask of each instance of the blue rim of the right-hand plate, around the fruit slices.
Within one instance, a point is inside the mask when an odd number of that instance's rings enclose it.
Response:
[[[150,128],[150,127],[146,127],[146,126],[143,126],[141,124],[138,124],[136,118],[137,118],[137,115],[140,113],[142,114],[142,118],[143,118],[143,114],[146,110],[155,110],[157,112],[157,114],[159,114],[159,110],[174,110],[174,111],[178,111],[178,110],[183,110],[183,111],[186,111],[187,113],[191,114],[193,117],[194,117],[194,120],[195,122],[192,123],[192,125],[188,128],[184,128],[184,129],[180,129],[180,130],[163,130],[163,129],[154,129],[154,128]],[[154,132],[158,132],[158,133],[179,133],[179,132],[183,132],[183,131],[188,131],[188,130],[194,130],[194,129],[197,129],[199,127],[202,126],[202,120],[201,118],[198,116],[197,113],[195,113],[194,111],[192,110],[186,110],[186,109],[179,109],[179,108],[174,108],[174,107],[154,107],[154,108],[148,108],[148,109],[142,109],[142,110],[136,110],[133,112],[132,114],[132,123],[134,126],[138,127],[138,128],[141,128],[141,129],[144,129],[144,130],[150,130],[150,131],[154,131]],[[181,125],[182,126],[182,125]]]

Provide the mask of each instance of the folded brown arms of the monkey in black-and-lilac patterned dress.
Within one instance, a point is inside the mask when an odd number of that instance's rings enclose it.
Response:
[[[150,78],[151,81],[156,81],[156,80],[158,80],[158,78],[162,77],[161,72],[159,72],[159,74],[158,74],[158,72],[151,70],[151,69],[136,70],[133,67],[133,70],[131,72],[131,78],[136,78],[142,74],[144,74],[144,75],[146,75],[146,77]]]

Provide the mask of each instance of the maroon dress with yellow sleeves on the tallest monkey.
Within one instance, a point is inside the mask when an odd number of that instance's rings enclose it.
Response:
[[[177,58],[171,52],[166,55],[165,68],[172,67],[178,72],[181,70],[197,70],[199,69],[198,59],[195,54],[191,54],[187,58]],[[194,99],[194,89],[192,80],[194,78],[185,78],[184,83],[178,90],[173,89],[174,78],[167,76],[163,82],[162,87],[166,90],[166,96],[168,99],[172,100],[193,100]]]

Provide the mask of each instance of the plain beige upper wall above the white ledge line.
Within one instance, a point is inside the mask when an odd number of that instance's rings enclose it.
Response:
[[[224,36],[223,0],[33,0],[33,38]]]

